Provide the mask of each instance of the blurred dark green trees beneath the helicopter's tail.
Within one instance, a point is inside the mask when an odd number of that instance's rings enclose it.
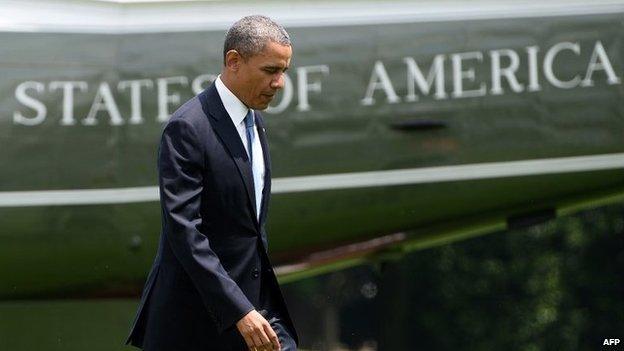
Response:
[[[624,204],[392,264],[380,350],[595,350],[624,336]]]

